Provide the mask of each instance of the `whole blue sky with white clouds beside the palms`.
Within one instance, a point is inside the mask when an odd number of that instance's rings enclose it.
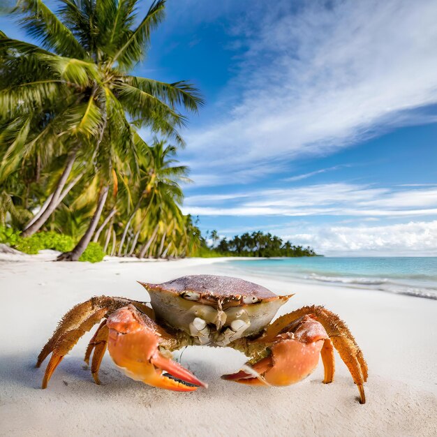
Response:
[[[436,22],[435,0],[168,0],[135,74],[205,96],[184,213],[325,255],[437,255]]]

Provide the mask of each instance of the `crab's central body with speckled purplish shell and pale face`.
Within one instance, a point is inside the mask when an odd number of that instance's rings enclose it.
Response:
[[[260,333],[292,296],[278,296],[258,284],[229,276],[194,275],[161,284],[140,284],[149,292],[158,319],[191,335],[193,320],[205,320],[208,338],[196,342],[217,346],[223,346],[218,341],[220,334],[235,320],[245,324],[244,332],[234,334],[232,340]]]

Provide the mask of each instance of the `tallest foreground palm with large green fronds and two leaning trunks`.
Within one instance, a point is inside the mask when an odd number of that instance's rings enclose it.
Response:
[[[24,235],[36,232],[59,205],[75,162],[99,179],[96,209],[76,248],[77,260],[96,229],[110,186],[135,178],[141,153],[138,128],[173,138],[202,98],[190,83],[129,75],[145,57],[151,31],[163,20],[165,0],[154,1],[135,24],[138,0],[61,0],[59,17],[42,0],[19,0],[15,13],[42,47],[0,34],[0,181],[27,161],[64,158],[45,211]],[[12,72],[13,75],[12,75]],[[13,77],[13,80],[10,80]],[[17,104],[20,102],[20,104]],[[81,169],[83,170],[83,169]]]

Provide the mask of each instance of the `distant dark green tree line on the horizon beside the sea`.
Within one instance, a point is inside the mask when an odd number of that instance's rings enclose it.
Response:
[[[270,232],[265,234],[261,231],[245,232],[242,235],[235,235],[232,239],[218,237],[217,231],[207,232],[209,240],[209,250],[221,255],[230,256],[253,256],[253,257],[298,257],[298,256],[317,256],[310,246],[295,246],[289,241]],[[206,244],[206,242],[205,242]]]

